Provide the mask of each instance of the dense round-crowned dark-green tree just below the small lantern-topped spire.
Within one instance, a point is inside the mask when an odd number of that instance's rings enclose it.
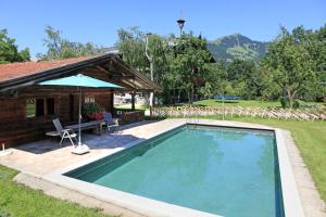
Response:
[[[212,56],[206,49],[206,41],[192,35],[184,35],[176,42],[174,52],[172,69],[179,75],[179,85],[187,91],[191,104],[195,88],[202,87],[205,82],[205,76],[209,75],[208,63]]]

